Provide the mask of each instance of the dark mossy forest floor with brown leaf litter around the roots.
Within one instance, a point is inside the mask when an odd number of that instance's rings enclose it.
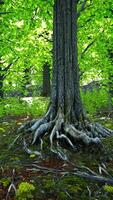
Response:
[[[113,186],[76,176],[73,172],[89,172],[113,179],[113,136],[103,139],[103,150],[87,149],[68,152],[69,162],[61,160],[45,147],[42,158],[28,155],[22,147],[17,129],[28,118],[5,117],[0,125],[0,200],[113,200]],[[113,129],[112,118],[95,117]],[[12,145],[11,145],[12,144]],[[24,188],[30,183],[35,189]],[[19,195],[16,195],[19,191]]]

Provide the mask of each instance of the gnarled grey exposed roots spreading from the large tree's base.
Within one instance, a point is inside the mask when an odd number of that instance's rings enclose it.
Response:
[[[81,125],[79,128],[77,124],[67,123],[61,111],[58,111],[56,117],[53,117],[55,115],[51,112],[53,111],[50,107],[44,118],[27,122],[20,127],[19,131],[24,130],[25,133],[31,134],[31,145],[40,144],[41,150],[43,149],[43,137],[49,135],[51,151],[63,160],[67,160],[67,156],[63,151],[64,148],[78,151],[81,145],[87,147],[91,147],[91,145],[100,146],[101,138],[113,134],[112,130],[104,128],[98,123],[92,124],[88,121],[85,121],[83,126]],[[24,150],[29,154],[41,155],[41,151],[31,151],[25,140]]]

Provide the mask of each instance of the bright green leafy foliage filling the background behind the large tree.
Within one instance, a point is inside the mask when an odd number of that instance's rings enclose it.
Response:
[[[45,0],[6,0],[2,11],[10,12],[0,15],[1,18],[1,68],[0,73],[5,75],[3,90],[24,92],[27,83],[42,84],[42,66],[48,62],[52,66],[52,32],[53,32],[53,3]],[[79,1],[78,11],[83,2]],[[113,74],[113,58],[109,50],[113,46],[113,15],[112,0],[87,1],[85,10],[78,18],[78,59],[80,70],[83,72],[81,82],[103,79],[109,82]],[[92,45],[88,47],[89,44]],[[85,51],[86,49],[86,51]],[[16,62],[14,62],[17,59]],[[103,62],[104,61],[104,62]],[[8,71],[7,66],[11,64]],[[26,80],[25,70],[29,70]],[[38,92],[37,94],[38,95]],[[82,94],[86,110],[94,114],[101,107],[107,105],[107,92]],[[0,105],[1,116],[42,115],[46,105],[36,106],[34,100],[32,108],[25,102],[8,99],[5,105]],[[1,104],[1,102],[0,102]],[[11,105],[12,104],[12,105]],[[20,106],[21,105],[21,106]]]

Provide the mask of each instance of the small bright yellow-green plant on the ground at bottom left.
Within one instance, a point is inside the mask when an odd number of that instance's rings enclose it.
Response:
[[[31,183],[22,182],[20,183],[17,191],[16,191],[16,198],[18,200],[28,200],[33,198],[33,191],[35,190],[35,187]]]

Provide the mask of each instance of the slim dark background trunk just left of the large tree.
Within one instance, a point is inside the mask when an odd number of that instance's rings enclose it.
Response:
[[[50,66],[48,63],[45,63],[43,66],[43,90],[42,96],[50,96]]]

